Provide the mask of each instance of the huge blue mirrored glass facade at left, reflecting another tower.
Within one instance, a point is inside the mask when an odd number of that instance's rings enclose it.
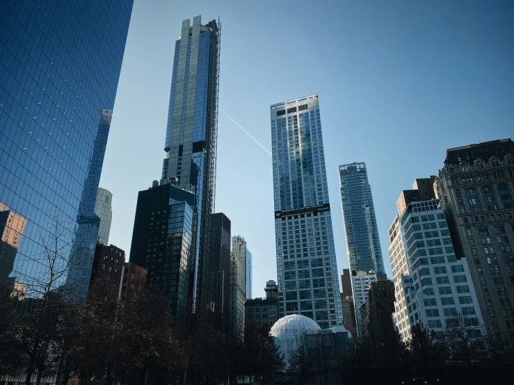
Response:
[[[72,259],[62,283],[86,293],[132,3],[0,2],[1,281],[44,278],[42,241],[62,229],[60,254]]]

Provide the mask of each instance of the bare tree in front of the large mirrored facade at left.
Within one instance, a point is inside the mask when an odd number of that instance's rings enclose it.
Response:
[[[31,258],[37,274],[24,282],[26,296],[18,306],[22,318],[17,340],[26,361],[26,385],[31,384],[35,371],[36,384],[42,376],[54,374],[63,340],[79,313],[79,304],[70,300],[74,287],[64,285],[74,258],[72,245],[78,242],[70,223],[56,217],[50,230],[40,234],[40,252]]]

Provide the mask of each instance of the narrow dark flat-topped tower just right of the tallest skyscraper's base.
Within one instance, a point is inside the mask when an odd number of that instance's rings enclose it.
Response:
[[[227,334],[230,329],[230,219],[212,214],[211,304],[216,325]]]

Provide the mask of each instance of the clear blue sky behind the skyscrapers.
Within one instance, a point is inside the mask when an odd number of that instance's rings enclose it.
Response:
[[[364,161],[384,263],[396,199],[445,150],[514,136],[514,1],[136,0],[100,186],[110,242],[130,249],[139,190],[160,179],[183,19],[221,21],[216,211],[276,279],[269,106],[319,94],[339,274],[348,267],[337,166]],[[109,55],[109,52],[105,53]]]

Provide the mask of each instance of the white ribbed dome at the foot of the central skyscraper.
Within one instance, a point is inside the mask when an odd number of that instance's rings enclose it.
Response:
[[[305,332],[319,330],[321,327],[312,318],[291,314],[275,322],[271,327],[270,335],[280,351],[287,355],[298,347],[298,342]]]

